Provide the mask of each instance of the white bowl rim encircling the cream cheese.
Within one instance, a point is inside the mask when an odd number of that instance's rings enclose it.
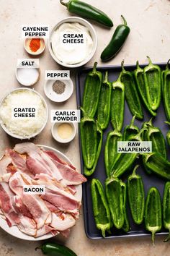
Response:
[[[89,33],[91,35],[91,38],[93,40],[93,49],[91,51],[91,54],[89,56],[86,57],[86,59],[84,59],[84,61],[81,61],[78,64],[66,64],[63,63],[62,61],[60,61],[59,59],[56,58],[55,54],[53,53],[53,48],[52,48],[52,43],[51,43],[51,38],[52,35],[54,33],[54,31],[63,23],[73,23],[73,22],[78,22],[81,25],[84,25],[85,27],[87,27],[89,29]],[[80,18],[80,17],[68,17],[66,19],[61,20],[60,22],[57,23],[57,25],[55,25],[55,27],[53,27],[53,30],[50,31],[50,36],[48,39],[48,49],[50,51],[50,55],[53,57],[53,59],[60,64],[63,67],[69,67],[69,68],[75,68],[75,67],[81,67],[84,64],[86,64],[95,54],[95,51],[97,50],[97,33],[94,30],[94,27],[86,20]]]

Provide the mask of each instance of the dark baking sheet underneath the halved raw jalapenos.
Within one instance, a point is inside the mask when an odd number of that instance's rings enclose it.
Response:
[[[166,67],[166,64],[158,64],[158,65],[161,67],[161,69],[165,69],[165,67]],[[146,66],[146,64],[143,64],[140,67],[145,67],[145,66]],[[83,97],[83,93],[84,93],[84,82],[85,82],[86,74],[91,69],[92,69],[91,67],[86,67],[86,68],[82,69],[81,71],[79,71],[76,76],[76,98],[77,98],[77,106],[78,107],[81,106],[81,101],[82,101],[82,97]],[[97,69],[103,73],[105,72],[105,70],[108,70],[109,81],[117,80],[118,74],[120,74],[120,72],[122,70],[120,66],[97,67]],[[125,66],[125,69],[132,71],[135,69],[135,65]],[[144,113],[143,121],[148,121],[149,119],[151,119],[151,115],[148,114],[148,112],[145,110],[144,106],[143,106],[143,113]],[[127,124],[130,124],[132,117],[133,116],[129,111],[128,105],[125,102],[125,116],[124,116],[123,129]],[[140,128],[143,121],[135,120],[135,124]],[[153,124],[154,124],[154,126],[161,128],[161,131],[163,132],[164,137],[166,137],[166,132],[168,132],[169,127],[167,124],[164,123],[164,121],[166,121],[166,116],[164,113],[163,103],[161,102],[161,106],[158,108],[158,114],[157,114],[156,118],[153,120]],[[89,239],[102,239],[102,233],[101,233],[101,231],[99,231],[96,228],[95,222],[94,222],[94,215],[93,215],[92,203],[91,203],[90,185],[91,185],[91,179],[93,179],[93,178],[99,179],[102,182],[102,184],[104,184],[104,181],[106,179],[105,168],[104,168],[104,145],[105,145],[106,138],[107,138],[107,132],[109,132],[110,130],[112,130],[112,126],[109,123],[109,127],[104,131],[102,151],[99,156],[97,169],[96,169],[96,171],[94,171],[94,174],[87,177],[88,181],[85,184],[83,184],[84,226],[85,226],[86,236],[88,236]],[[81,172],[83,173],[84,163],[83,163],[83,158],[82,158],[82,154],[81,154],[80,131],[79,131],[79,145],[80,145],[80,155],[81,155]],[[169,158],[170,149],[169,149],[167,143],[166,143],[166,148],[167,148],[167,155]],[[170,160],[170,158],[169,158],[169,160]],[[138,161],[135,161],[135,164],[136,163],[138,163]],[[131,173],[132,173],[132,171],[131,171]],[[144,183],[146,195],[147,195],[148,189],[152,186],[155,186],[158,188],[159,192],[161,193],[161,198],[162,198],[163,192],[164,192],[164,184],[166,181],[154,174],[153,175],[146,174],[146,172],[144,171],[144,169],[141,166],[138,168],[137,173],[143,177],[143,183]],[[128,174],[126,173],[125,176],[121,177],[124,182],[126,182],[127,176],[128,176]],[[131,227],[131,230],[128,233],[125,233],[122,230],[117,231],[116,229],[112,228],[112,234],[108,234],[106,232],[106,238],[151,235],[150,232],[146,231],[144,221],[141,225],[136,225],[133,222],[131,215],[130,215],[129,208],[128,208],[128,218],[130,220],[130,227]],[[168,233],[165,229],[162,229],[161,232],[159,232],[157,234],[168,234]]]

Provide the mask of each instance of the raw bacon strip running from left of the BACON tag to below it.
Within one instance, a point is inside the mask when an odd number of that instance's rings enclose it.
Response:
[[[47,219],[48,223],[51,222],[51,218],[48,218],[51,216],[50,210],[48,210],[45,203],[38,195],[24,195],[24,184],[24,180],[19,172],[16,172],[11,179],[9,179],[9,187],[16,195],[22,198],[22,202],[30,211],[32,218],[34,218],[37,223],[37,229],[40,229],[44,226]]]

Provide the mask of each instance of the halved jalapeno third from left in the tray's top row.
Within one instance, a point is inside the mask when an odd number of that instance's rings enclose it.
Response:
[[[117,127],[121,131],[125,108],[125,86],[120,81],[120,76],[116,82],[112,82],[112,96],[110,116],[113,129]],[[115,127],[116,126],[116,127]]]

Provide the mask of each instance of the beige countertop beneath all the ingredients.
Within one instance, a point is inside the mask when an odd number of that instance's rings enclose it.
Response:
[[[59,20],[68,17],[69,14],[66,8],[59,4],[59,0],[1,0],[0,9],[0,85],[1,98],[9,92],[9,90],[18,88],[19,83],[15,78],[15,69],[18,58],[28,57],[24,51],[23,40],[21,38],[21,26],[29,24],[49,25],[52,28]],[[107,64],[120,64],[122,59],[125,59],[125,64],[135,64],[138,59],[140,63],[146,63],[146,56],[151,56],[153,62],[166,62],[169,59],[169,0],[86,0],[89,4],[95,4],[97,7],[106,12],[114,21],[115,27],[120,24],[120,15],[125,15],[128,25],[131,28],[131,33],[125,46],[120,51],[115,59]],[[93,22],[92,22],[93,24]],[[94,24],[97,31],[98,46],[94,58],[87,64],[91,66],[94,61],[100,63],[100,53],[104,46],[107,45],[112,36],[113,31],[107,30],[104,27]],[[40,57],[41,77],[40,81],[35,85],[35,90],[43,96],[43,85],[45,82],[45,69],[62,69],[51,58],[48,48]],[[71,71],[75,85],[76,72]],[[76,91],[74,87],[73,95],[70,100],[64,104],[56,104],[48,101],[50,108],[76,108]],[[80,168],[79,163],[79,141],[78,135],[70,145],[59,145],[53,140],[50,135],[50,121],[45,127],[45,130],[40,136],[33,140],[35,143],[50,145],[65,153],[68,158],[73,161],[77,168]],[[9,138],[0,129],[0,150],[1,154],[8,145],[14,145],[17,142]],[[63,241],[68,247],[71,247],[79,256],[168,256],[169,243],[164,243],[164,236],[156,236],[156,246],[151,244],[151,237],[133,237],[129,239],[102,239],[89,240],[84,232],[84,220],[81,214],[79,221],[71,231],[71,236],[68,239],[63,239],[56,236],[54,241]],[[42,255],[41,252],[35,252],[35,247],[40,242],[25,242],[9,236],[0,229],[0,255],[1,256],[35,256]]]

